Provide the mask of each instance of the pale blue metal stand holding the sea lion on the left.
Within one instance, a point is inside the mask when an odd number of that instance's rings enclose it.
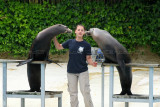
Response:
[[[41,92],[7,91],[7,63],[18,63],[21,60],[0,59],[3,64],[3,103],[7,107],[7,98],[21,98],[21,107],[25,107],[25,98],[40,98],[41,107],[45,107],[45,98],[58,97],[58,107],[62,107],[62,91],[45,91],[45,61],[34,61],[34,64],[41,64]]]

